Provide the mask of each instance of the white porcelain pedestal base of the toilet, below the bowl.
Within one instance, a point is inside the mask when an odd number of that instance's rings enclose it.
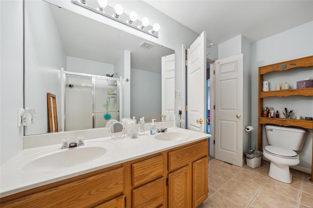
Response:
[[[277,165],[273,162],[270,162],[268,176],[287,184],[292,182],[292,175],[289,170],[289,166]]]

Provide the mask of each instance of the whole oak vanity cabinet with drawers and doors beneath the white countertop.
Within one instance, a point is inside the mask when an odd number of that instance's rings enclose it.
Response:
[[[0,199],[0,207],[196,208],[208,196],[207,139]]]

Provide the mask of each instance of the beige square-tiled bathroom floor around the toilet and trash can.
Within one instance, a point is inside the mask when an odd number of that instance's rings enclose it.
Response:
[[[309,174],[291,169],[292,183],[268,176],[269,163],[239,167],[209,161],[209,197],[199,208],[313,208],[313,182]]]

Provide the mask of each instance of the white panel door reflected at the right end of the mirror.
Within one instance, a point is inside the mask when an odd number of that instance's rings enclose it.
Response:
[[[175,54],[163,56],[162,63],[162,115],[173,121],[175,109]]]

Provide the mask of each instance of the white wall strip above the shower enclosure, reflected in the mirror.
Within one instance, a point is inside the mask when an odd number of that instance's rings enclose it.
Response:
[[[106,76],[107,74],[112,75],[114,73],[114,65],[67,56],[66,71]]]

